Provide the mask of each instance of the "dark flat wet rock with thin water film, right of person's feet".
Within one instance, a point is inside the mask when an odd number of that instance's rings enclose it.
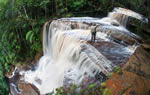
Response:
[[[124,46],[118,43],[111,43],[106,41],[99,41],[97,43],[91,43],[99,52],[101,52],[107,59],[109,59],[115,65],[125,64],[130,57],[130,54],[127,54],[124,51]]]

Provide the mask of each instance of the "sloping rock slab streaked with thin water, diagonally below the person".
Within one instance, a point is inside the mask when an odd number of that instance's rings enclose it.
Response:
[[[82,45],[82,53],[84,53],[95,65],[98,65],[99,70],[105,75],[108,75],[116,65],[104,57],[99,51],[97,51],[90,44]]]

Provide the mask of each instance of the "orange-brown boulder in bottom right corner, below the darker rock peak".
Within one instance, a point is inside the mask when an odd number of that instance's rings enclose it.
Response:
[[[150,95],[149,85],[150,79],[127,71],[122,71],[120,75],[115,73],[106,81],[110,95]]]

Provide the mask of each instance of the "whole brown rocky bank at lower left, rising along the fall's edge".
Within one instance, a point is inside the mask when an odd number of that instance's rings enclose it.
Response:
[[[22,70],[34,70],[34,66],[38,62],[40,56],[41,54],[38,53],[31,64],[16,66],[12,72],[14,73],[12,74],[13,76],[10,76],[10,74],[7,75],[7,77],[9,77],[11,95],[40,95],[38,89],[34,85],[28,84],[24,80],[22,80],[23,76],[20,75],[20,71]]]

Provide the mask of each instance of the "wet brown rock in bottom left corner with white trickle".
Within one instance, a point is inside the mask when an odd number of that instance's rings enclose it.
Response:
[[[16,69],[14,76],[9,78],[11,95],[40,95],[34,85],[27,84],[22,80],[20,69]]]

